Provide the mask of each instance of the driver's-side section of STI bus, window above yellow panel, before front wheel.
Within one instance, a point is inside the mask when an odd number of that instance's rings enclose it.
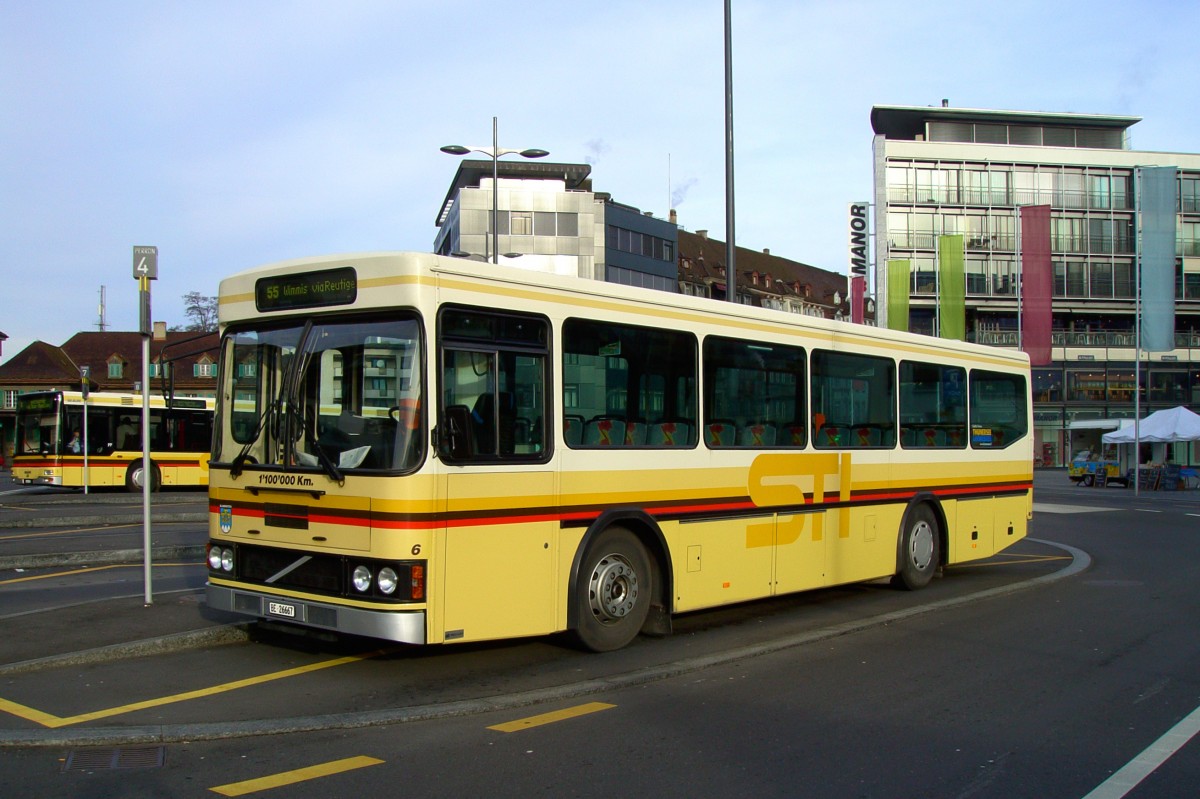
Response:
[[[559,523],[545,447],[542,324],[443,313],[437,443],[445,525],[431,641],[556,629]]]

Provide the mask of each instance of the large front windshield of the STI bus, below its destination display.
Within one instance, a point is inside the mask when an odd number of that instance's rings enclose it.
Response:
[[[412,314],[238,328],[222,342],[212,461],[408,470],[424,457],[421,334]]]

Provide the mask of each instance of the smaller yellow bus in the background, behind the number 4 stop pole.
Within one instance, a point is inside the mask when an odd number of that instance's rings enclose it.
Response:
[[[150,397],[150,487],[206,486],[215,401]],[[84,416],[86,415],[86,425]],[[86,469],[85,469],[86,465]],[[142,491],[142,395],[37,391],[17,397],[12,477],[25,486]]]

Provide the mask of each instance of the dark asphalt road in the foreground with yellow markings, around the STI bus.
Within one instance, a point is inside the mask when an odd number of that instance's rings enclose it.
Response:
[[[0,699],[77,739],[0,750],[0,795],[1196,795],[1200,493],[1054,477],[1039,474],[1033,525],[1051,543],[916,594],[692,614],[610,655],[268,635],[6,675]],[[1073,563],[1087,567],[1050,578]],[[322,723],[271,734],[280,719]],[[257,734],[186,735],[218,727]],[[97,765],[86,734],[113,728],[154,729],[113,751],[161,764]]]

